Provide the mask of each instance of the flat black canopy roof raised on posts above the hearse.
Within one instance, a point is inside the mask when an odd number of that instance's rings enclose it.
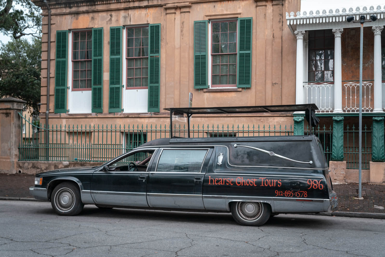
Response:
[[[196,107],[196,108],[164,108],[164,110],[177,113],[192,114],[218,114],[218,113],[260,113],[260,112],[305,112],[318,110],[315,103],[291,105],[263,105],[239,107]]]

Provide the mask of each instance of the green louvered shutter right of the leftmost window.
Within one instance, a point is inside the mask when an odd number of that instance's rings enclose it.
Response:
[[[92,29],[92,112],[103,112],[103,28]]]

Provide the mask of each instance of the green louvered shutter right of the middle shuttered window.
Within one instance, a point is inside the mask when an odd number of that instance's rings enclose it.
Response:
[[[149,25],[148,112],[159,112],[161,87],[161,24]]]

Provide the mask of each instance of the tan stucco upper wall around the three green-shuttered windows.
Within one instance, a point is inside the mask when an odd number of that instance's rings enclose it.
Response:
[[[55,1],[65,2],[65,1]],[[89,1],[84,1],[89,2]],[[92,1],[93,2],[93,1]],[[46,111],[47,94],[47,10],[43,6],[42,89],[40,112]],[[298,0],[229,0],[179,2],[172,0],[123,1],[95,5],[59,7],[51,5],[50,124],[167,122],[166,107],[187,107],[192,92],[193,106],[248,106],[295,103],[296,39],[286,25],[285,13],[299,8]],[[235,92],[205,92],[194,89],[193,23],[213,18],[253,17],[252,86]],[[112,26],[161,23],[161,113],[108,113],[109,28]],[[54,112],[55,37],[57,30],[104,28],[103,113],[73,115]],[[67,97],[68,99],[68,97]],[[68,105],[67,105],[68,108]],[[41,122],[45,123],[44,115]],[[154,119],[155,118],[155,119]],[[65,121],[67,120],[67,121]],[[71,120],[71,121],[70,121]],[[234,118],[231,123],[241,123]],[[213,123],[213,122],[209,122]],[[276,123],[276,122],[273,122]]]

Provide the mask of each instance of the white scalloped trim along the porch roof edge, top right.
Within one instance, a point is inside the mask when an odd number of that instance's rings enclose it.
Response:
[[[355,11],[353,11],[353,7],[350,7],[348,11],[346,11],[346,8],[342,8],[341,12],[340,9],[335,9],[334,12],[330,9],[328,13],[326,13],[326,10],[322,10],[322,13],[320,10],[316,10],[315,13],[310,11],[309,14],[304,11],[302,15],[301,12],[298,11],[296,16],[294,16],[294,12],[290,12],[290,15],[286,12],[286,20],[288,25],[345,22],[346,17],[348,16],[355,16],[355,20],[359,20],[360,15],[365,15],[367,19],[370,19],[370,15],[372,14],[376,15],[378,19],[385,18],[385,5],[383,8],[380,5],[377,5],[376,10],[374,10],[373,6],[370,6],[369,10],[364,6],[362,11],[360,10],[360,7],[355,7]]]

